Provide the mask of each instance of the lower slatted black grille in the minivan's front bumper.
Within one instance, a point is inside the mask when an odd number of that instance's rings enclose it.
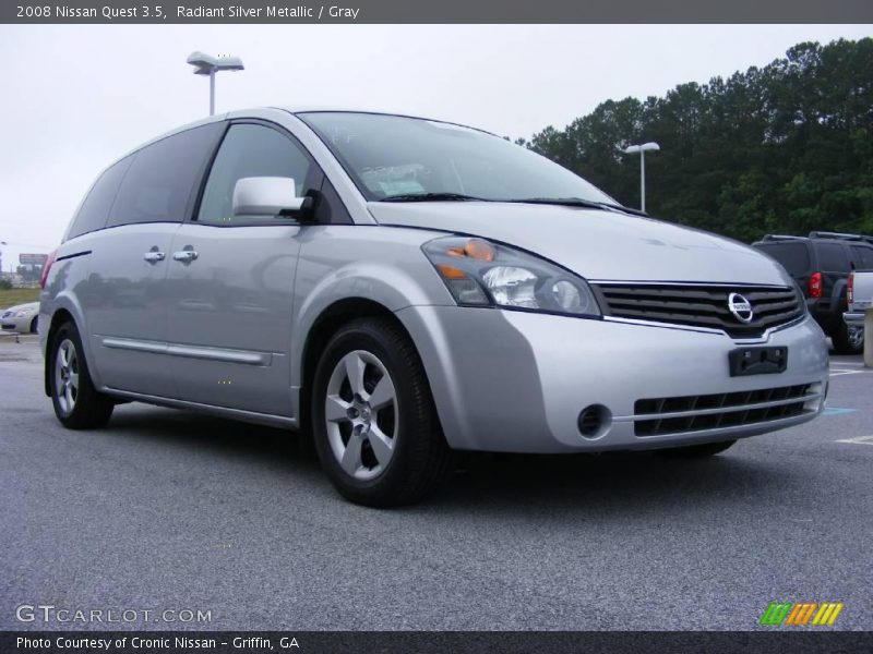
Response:
[[[665,436],[766,423],[801,415],[820,393],[810,384],[675,398],[649,398],[634,403],[634,433]]]

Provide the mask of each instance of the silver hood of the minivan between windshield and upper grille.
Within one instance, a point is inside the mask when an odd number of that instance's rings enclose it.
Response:
[[[774,259],[737,241],[653,218],[554,205],[371,202],[381,225],[502,241],[589,280],[791,286]]]

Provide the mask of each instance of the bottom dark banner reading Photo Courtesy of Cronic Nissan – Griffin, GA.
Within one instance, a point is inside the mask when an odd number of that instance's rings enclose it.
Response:
[[[498,631],[187,631],[187,632],[0,632],[3,654],[110,652],[113,654],[203,652],[285,652],[332,654],[549,654],[609,652],[870,652],[870,632],[822,631],[654,631],[654,632],[498,632]]]

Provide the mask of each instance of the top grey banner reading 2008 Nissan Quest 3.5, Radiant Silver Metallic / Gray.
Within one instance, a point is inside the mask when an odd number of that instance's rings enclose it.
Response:
[[[0,23],[873,23],[870,0],[13,0]]]

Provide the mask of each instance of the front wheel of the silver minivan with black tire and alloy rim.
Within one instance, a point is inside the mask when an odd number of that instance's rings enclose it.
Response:
[[[327,343],[313,382],[312,429],[322,468],[346,499],[414,504],[451,471],[424,370],[393,322],[363,318]]]

